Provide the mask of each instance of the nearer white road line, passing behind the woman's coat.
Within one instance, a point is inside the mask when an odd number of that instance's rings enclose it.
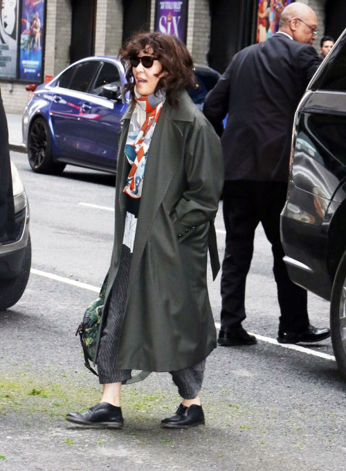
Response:
[[[98,288],[97,286],[92,286],[91,284],[86,283],[80,283],[80,281],[75,281],[74,279],[60,277],[59,275],[53,275],[53,273],[47,273],[41,270],[35,270],[35,268],[31,268],[30,273],[33,273],[33,275],[39,275],[40,277],[55,279],[56,281],[61,281],[62,283],[71,284],[73,286],[77,286],[78,288],[84,288],[86,290],[94,291],[95,293],[100,293],[100,288]],[[219,324],[219,322],[215,322],[215,326],[217,329],[220,329],[221,324]],[[283,347],[284,349],[300,351],[302,353],[307,353],[307,355],[318,356],[320,358],[325,358],[325,360],[335,361],[334,356],[328,355],[327,353],[306,349],[305,347],[300,347],[299,345],[280,344],[279,342],[277,342],[277,340],[273,338],[264,337],[263,335],[257,335],[257,333],[252,333],[251,335],[255,335],[255,338],[257,338],[257,340],[262,340],[262,342],[277,345],[278,347]]]

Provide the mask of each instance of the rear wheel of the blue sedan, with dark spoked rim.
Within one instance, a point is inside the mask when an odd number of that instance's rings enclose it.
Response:
[[[37,174],[60,175],[66,164],[53,162],[51,130],[44,118],[37,118],[28,133],[28,159]]]

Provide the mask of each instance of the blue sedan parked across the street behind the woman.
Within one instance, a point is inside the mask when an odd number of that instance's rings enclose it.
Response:
[[[190,96],[203,107],[219,73],[195,66]],[[89,57],[37,86],[23,116],[23,140],[30,167],[39,174],[61,174],[66,164],[116,173],[125,71],[114,57]]]

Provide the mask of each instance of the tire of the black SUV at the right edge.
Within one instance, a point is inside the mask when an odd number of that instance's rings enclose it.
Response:
[[[346,252],[334,278],[330,304],[331,344],[341,377],[346,380]]]

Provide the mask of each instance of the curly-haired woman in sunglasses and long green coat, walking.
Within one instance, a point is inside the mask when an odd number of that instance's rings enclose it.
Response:
[[[122,427],[120,386],[131,370],[169,371],[183,397],[163,427],[204,423],[199,391],[216,347],[208,297],[214,219],[224,183],[221,145],[187,91],[192,57],[176,37],[141,33],[122,50],[131,105],[122,118],[115,239],[95,362],[100,403],[66,419]]]

